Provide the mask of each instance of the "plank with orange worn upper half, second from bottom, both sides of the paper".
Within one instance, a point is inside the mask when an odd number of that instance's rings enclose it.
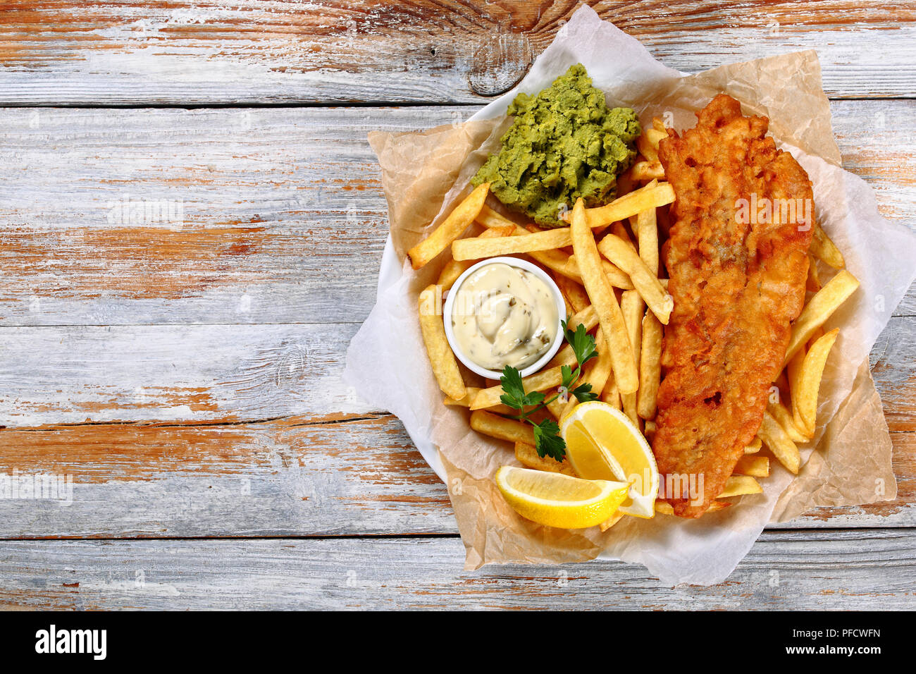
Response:
[[[896,501],[820,508],[771,528],[912,527],[916,433],[891,438]],[[5,430],[0,456],[0,480],[72,484],[57,500],[0,499],[0,538],[457,533],[445,486],[391,414]]]

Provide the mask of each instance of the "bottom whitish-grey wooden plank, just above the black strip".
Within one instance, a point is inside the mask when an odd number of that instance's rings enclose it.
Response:
[[[728,582],[595,561],[462,571],[456,537],[0,542],[5,609],[907,609],[905,530],[765,532]]]

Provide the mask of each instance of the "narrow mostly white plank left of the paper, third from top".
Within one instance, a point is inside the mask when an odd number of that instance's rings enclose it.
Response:
[[[237,422],[367,411],[355,324],[0,329],[0,425]]]

